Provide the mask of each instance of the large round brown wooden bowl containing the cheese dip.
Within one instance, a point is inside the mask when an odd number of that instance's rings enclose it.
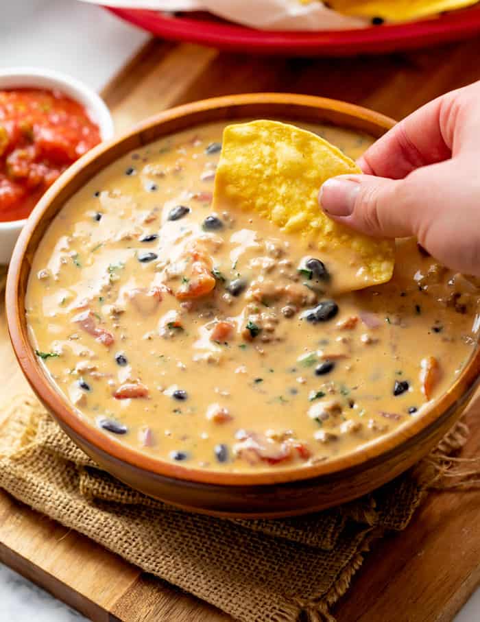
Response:
[[[298,470],[219,473],[163,462],[122,446],[78,417],[56,390],[29,342],[25,290],[32,258],[52,219],[73,193],[98,171],[160,136],[210,121],[277,117],[332,123],[381,136],[394,121],[331,99],[304,95],[234,95],[162,112],[128,134],[99,145],[53,184],[29,217],[14,250],[6,307],[10,337],[20,366],[38,398],[70,438],[102,468],[132,488],[181,507],[221,516],[278,517],[320,510],[359,497],[403,473],[440,441],[464,411],[477,384],[480,350],[450,390],[396,431],[343,457]]]

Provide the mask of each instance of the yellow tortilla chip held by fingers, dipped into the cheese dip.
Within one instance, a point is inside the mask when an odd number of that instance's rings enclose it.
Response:
[[[392,278],[394,242],[337,224],[317,202],[328,178],[360,172],[337,147],[294,125],[278,121],[228,125],[213,206],[256,211],[281,230],[314,242],[324,256],[340,255],[352,272],[345,289],[361,289]]]

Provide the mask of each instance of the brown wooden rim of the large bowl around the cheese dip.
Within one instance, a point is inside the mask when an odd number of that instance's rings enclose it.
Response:
[[[40,361],[38,361],[37,357],[34,355],[34,349],[28,337],[25,309],[20,308],[20,302],[22,300],[20,288],[21,270],[23,262],[27,262],[26,254],[27,251],[30,250],[29,247],[32,235],[36,230],[36,226],[42,220],[43,214],[47,211],[47,208],[49,208],[49,205],[56,200],[58,195],[62,193],[62,190],[69,187],[69,184],[71,184],[72,180],[75,180],[75,176],[77,176],[80,171],[88,167],[88,165],[91,165],[91,163],[100,156],[108,154],[110,150],[115,152],[117,147],[117,155],[115,158],[112,158],[110,162],[128,153],[132,150],[132,147],[128,146],[130,145],[129,139],[139,139],[142,145],[152,142],[156,139],[156,136],[152,137],[149,130],[157,128],[158,125],[167,125],[168,127],[168,123],[171,121],[174,122],[176,119],[189,119],[189,117],[191,117],[193,122],[184,125],[184,128],[193,128],[195,125],[199,125],[198,122],[195,123],[195,115],[206,110],[215,112],[215,119],[221,121],[226,118],[222,116],[222,110],[226,111],[229,108],[243,109],[248,108],[248,106],[254,108],[254,106],[258,105],[267,105],[273,108],[275,106],[283,106],[284,108],[285,106],[292,106],[292,109],[305,109],[302,115],[297,115],[298,119],[304,117],[305,121],[309,120],[307,119],[307,110],[309,108],[315,109],[317,113],[325,111],[334,115],[338,114],[339,117],[352,119],[352,121],[355,119],[357,125],[361,122],[363,127],[368,127],[370,125],[371,128],[376,128],[377,132],[386,132],[389,128],[392,128],[395,123],[393,119],[389,119],[389,117],[385,117],[378,112],[335,99],[290,93],[252,93],[215,97],[196,101],[191,104],[184,104],[160,112],[159,115],[149,117],[149,119],[134,125],[128,132],[123,133],[114,141],[97,145],[97,147],[94,147],[91,151],[82,156],[80,160],[73,163],[73,165],[71,165],[71,167],[69,167],[69,169],[67,169],[67,171],[65,171],[51,186],[47,193],[43,195],[34,208],[34,211],[32,211],[14,248],[12,263],[8,274],[5,298],[8,330],[16,358],[19,361],[23,374],[25,374],[27,381],[45,407],[54,414],[62,427],[67,429],[67,432],[71,430],[74,435],[80,436],[87,444],[95,446],[97,451],[107,453],[120,462],[137,469],[145,470],[154,476],[167,477],[191,483],[213,484],[216,486],[271,486],[272,484],[288,484],[293,481],[305,482],[309,479],[324,477],[328,479],[331,478],[333,484],[337,477],[346,475],[355,468],[368,470],[368,468],[388,458],[394,459],[396,455],[400,455],[410,446],[414,446],[420,438],[428,435],[432,429],[440,426],[443,418],[451,412],[452,409],[464,403],[468,396],[470,396],[472,388],[475,387],[479,381],[479,346],[477,345],[475,347],[470,359],[463,370],[461,370],[457,379],[452,383],[451,387],[449,387],[438,400],[435,400],[435,402],[430,405],[425,405],[422,409],[421,416],[409,420],[407,424],[398,427],[396,430],[387,435],[383,435],[373,442],[365,444],[365,446],[357,448],[351,453],[300,468],[283,468],[272,471],[262,470],[259,473],[224,473],[216,470],[202,470],[200,468],[179,466],[166,462],[163,459],[151,457],[145,453],[141,453],[141,451],[136,451],[134,448],[121,444],[121,442],[115,440],[115,438],[100,431],[94,424],[88,422],[86,418],[82,418],[76,414],[73,407],[67,402],[67,399],[60,394],[60,391],[56,390],[51,380],[48,379],[47,374],[45,374],[40,365]],[[241,115],[237,116],[241,118]],[[248,112],[245,111],[243,117],[248,116]],[[275,116],[274,112],[272,116]],[[287,117],[288,115],[285,115],[285,113],[283,115],[277,113],[276,117],[279,116]],[[211,119],[211,121],[215,119]],[[344,125],[344,127],[345,126],[346,125]],[[357,130],[360,131],[359,128],[357,128]],[[165,135],[178,131],[180,130],[174,130],[173,132],[167,131]],[[122,151],[121,149],[124,145],[126,145],[126,148]],[[138,145],[133,147],[133,149],[135,148],[139,148]],[[102,167],[96,168],[89,178],[95,176],[101,168]],[[73,192],[71,194],[73,194]],[[55,215],[58,214],[60,209],[61,206],[56,209]],[[42,236],[45,235],[46,230],[47,228],[43,230]],[[25,277],[25,290],[30,268],[31,265],[27,268],[28,274]]]

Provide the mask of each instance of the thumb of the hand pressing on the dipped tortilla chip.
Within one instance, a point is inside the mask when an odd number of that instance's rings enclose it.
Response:
[[[405,179],[342,175],[327,180],[318,199],[328,216],[368,235],[416,235],[420,206]]]

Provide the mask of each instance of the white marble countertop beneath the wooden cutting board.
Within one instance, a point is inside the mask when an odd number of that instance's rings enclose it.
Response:
[[[29,65],[70,73],[101,89],[147,39],[106,11],[76,0],[0,0],[0,67]],[[27,579],[0,564],[1,622],[80,622]],[[480,590],[455,622],[480,620]],[[372,621],[382,622],[382,621]],[[406,622],[398,618],[398,622]]]

